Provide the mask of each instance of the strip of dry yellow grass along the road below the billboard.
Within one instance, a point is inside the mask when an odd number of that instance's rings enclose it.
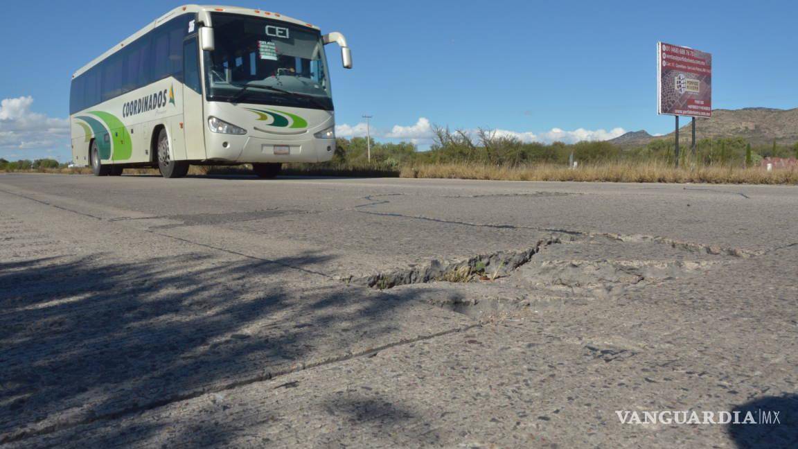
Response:
[[[491,166],[472,163],[408,166],[401,177],[480,179],[497,181],[599,181],[599,182],[670,182],[709,184],[798,184],[798,170],[768,172],[760,168],[698,167],[674,169],[654,163],[614,162],[584,165],[569,169],[563,165],[522,167]]]

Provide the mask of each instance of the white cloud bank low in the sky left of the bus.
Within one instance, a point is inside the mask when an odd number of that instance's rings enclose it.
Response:
[[[34,113],[31,110],[33,104],[33,97],[0,101],[0,150],[69,148],[69,120]],[[26,157],[38,156],[41,155]]]

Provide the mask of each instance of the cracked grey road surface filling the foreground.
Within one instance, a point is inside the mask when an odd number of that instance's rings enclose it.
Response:
[[[798,445],[795,187],[5,174],[0,205],[2,447]]]

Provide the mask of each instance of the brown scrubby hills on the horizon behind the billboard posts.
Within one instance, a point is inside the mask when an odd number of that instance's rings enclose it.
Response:
[[[690,138],[690,119],[682,117],[679,140]],[[696,122],[696,138],[743,137],[753,145],[769,145],[775,140],[780,145],[792,145],[798,141],[798,108],[744,108],[715,109],[712,118],[699,118]],[[646,131],[634,131],[615,137],[610,142],[623,147],[645,146],[654,139],[671,139],[674,133],[651,136]]]

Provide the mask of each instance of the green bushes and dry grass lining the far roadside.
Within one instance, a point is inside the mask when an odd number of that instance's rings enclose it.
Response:
[[[794,145],[751,145],[742,138],[703,139],[693,154],[681,143],[680,168],[675,165],[672,139],[651,141],[639,148],[622,148],[606,141],[572,145],[526,143],[492,130],[476,133],[434,129],[429,151],[418,151],[410,142],[372,141],[371,161],[363,137],[338,138],[333,160],[323,164],[290,164],[288,175],[347,177],[425,177],[508,181],[609,181],[701,182],[745,184],[798,184],[798,168],[762,166],[765,157],[795,157]],[[571,166],[571,161],[577,163]],[[89,174],[86,167],[68,168],[52,159],[6,161],[3,172]],[[126,169],[125,173],[157,174],[156,169]],[[247,166],[192,166],[189,174],[248,174]]]

